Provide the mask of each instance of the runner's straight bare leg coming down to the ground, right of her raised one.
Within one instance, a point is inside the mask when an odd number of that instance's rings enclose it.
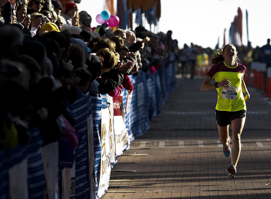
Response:
[[[240,152],[241,152],[241,133],[244,127],[246,118],[237,118],[231,121],[231,127],[233,129],[233,135],[231,140],[233,142],[233,146],[231,148],[231,164],[236,166]]]

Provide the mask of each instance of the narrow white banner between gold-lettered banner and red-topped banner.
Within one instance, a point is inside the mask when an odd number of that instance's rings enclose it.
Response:
[[[117,163],[115,159],[116,143],[115,143],[115,130],[114,130],[114,107],[113,97],[107,96],[108,109],[109,109],[109,144],[110,144],[110,160],[111,163]]]

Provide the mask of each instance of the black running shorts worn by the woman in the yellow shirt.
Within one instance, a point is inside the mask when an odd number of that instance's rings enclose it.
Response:
[[[241,111],[218,111],[215,110],[215,118],[217,124],[221,127],[225,127],[231,124],[231,121],[237,118],[246,118],[246,110]]]

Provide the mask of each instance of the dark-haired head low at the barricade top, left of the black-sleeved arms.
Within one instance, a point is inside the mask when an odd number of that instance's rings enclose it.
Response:
[[[80,78],[80,82],[77,86],[77,89],[82,93],[85,93],[91,82],[92,75],[87,69],[79,68],[73,71],[74,74]]]

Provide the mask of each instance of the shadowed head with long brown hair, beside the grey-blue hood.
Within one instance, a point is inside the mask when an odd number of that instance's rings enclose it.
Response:
[[[71,44],[67,59],[72,60],[74,70],[78,68],[83,68],[85,63],[83,48],[79,45]]]

